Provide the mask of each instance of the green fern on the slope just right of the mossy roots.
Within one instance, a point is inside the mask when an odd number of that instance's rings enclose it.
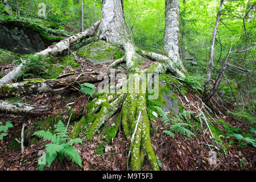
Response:
[[[188,119],[188,115],[192,113],[192,111],[183,111],[182,113],[180,113],[179,115],[176,115],[176,118],[174,118],[174,120],[172,121],[172,125],[170,122],[170,119],[168,118],[168,115],[166,113],[164,113],[164,111],[158,107],[155,106],[156,110],[158,110],[158,113],[164,123],[165,126],[169,126],[170,130],[164,130],[163,132],[166,133],[167,135],[169,135],[170,137],[174,138],[174,133],[172,133],[172,131],[176,131],[177,133],[180,134],[188,134],[188,135],[194,135],[190,130],[186,129],[185,127],[191,127],[191,125],[189,125],[188,123],[183,123],[181,121],[183,121],[183,117],[185,117],[185,119]]]

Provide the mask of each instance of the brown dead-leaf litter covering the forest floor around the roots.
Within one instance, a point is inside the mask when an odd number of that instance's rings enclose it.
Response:
[[[35,121],[43,121],[51,115],[59,114],[64,105],[74,100],[75,107],[73,109],[79,110],[80,108],[76,107],[82,107],[81,103],[86,103],[89,99],[86,96],[77,97],[73,93],[63,92],[61,97],[59,94],[53,96],[51,94],[26,96],[26,101],[30,104],[47,103],[51,105],[52,110],[49,114],[39,115],[38,117],[0,114],[2,121],[14,121],[14,127],[9,129],[9,135],[0,141],[0,170],[37,170],[39,151],[44,150],[43,146],[47,142],[39,140],[39,142],[30,145],[25,140],[24,152],[20,154],[19,144],[14,141],[14,138],[17,134],[20,134],[22,124],[26,122],[26,128],[30,128]],[[233,118],[230,115],[226,115],[225,121],[230,122],[235,127],[240,127],[240,129],[243,127],[240,119]],[[68,130],[71,129],[72,125],[69,125]],[[226,148],[226,152],[224,152],[220,146],[209,139],[206,130],[203,134],[196,130],[196,137],[191,139],[186,139],[177,133],[175,133],[175,138],[171,138],[163,133],[163,130],[167,130],[167,128],[160,119],[151,121],[151,131],[153,132],[151,142],[160,163],[162,163],[162,170],[255,170],[255,147],[253,146],[243,146],[240,150],[238,145],[229,145],[227,140],[224,141],[224,144],[230,147]],[[80,135],[80,138],[85,139],[85,134]],[[19,140],[19,138],[17,139]],[[13,142],[16,142],[15,147],[11,147]],[[82,168],[68,162],[66,159],[62,163],[57,159],[53,162],[51,168],[46,167],[44,170],[126,170],[130,143],[127,142],[122,131],[119,131],[110,146],[105,144],[104,147],[99,147],[102,146],[102,143],[107,143],[106,137],[96,135],[90,142],[75,146],[82,157]],[[208,162],[210,148],[218,151],[217,163],[213,165]],[[145,163],[142,170],[147,171],[149,169],[149,164]]]

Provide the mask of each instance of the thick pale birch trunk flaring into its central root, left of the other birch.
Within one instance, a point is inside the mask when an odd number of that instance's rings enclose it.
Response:
[[[135,51],[135,43],[127,31],[122,0],[102,1],[101,23],[97,35],[99,39],[125,49],[126,67],[129,71],[138,68],[139,57]]]

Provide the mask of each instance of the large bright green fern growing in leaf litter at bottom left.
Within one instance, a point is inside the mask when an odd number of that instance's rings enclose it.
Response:
[[[79,152],[76,151],[76,148],[70,145],[72,143],[82,144],[82,140],[80,138],[76,138],[67,142],[68,132],[63,122],[59,121],[55,125],[55,134],[52,134],[50,131],[41,130],[36,131],[33,135],[52,142],[46,144],[46,154],[39,158],[40,163],[38,165],[40,171],[46,167],[46,164],[51,166],[51,163],[57,158],[57,156],[59,156],[61,162],[65,157],[67,157],[68,160],[72,160],[72,162],[79,164],[81,167],[81,156],[79,155]],[[42,163],[44,159],[46,163]]]

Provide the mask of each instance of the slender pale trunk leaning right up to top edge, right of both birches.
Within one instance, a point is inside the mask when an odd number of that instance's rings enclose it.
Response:
[[[207,72],[207,78],[206,78],[205,84],[204,84],[204,92],[205,93],[207,93],[207,91],[208,91],[210,76],[212,75],[214,42],[215,42],[215,39],[216,39],[217,30],[218,30],[218,23],[220,23],[220,16],[221,16],[223,2],[224,2],[224,0],[221,0],[221,2],[220,2],[220,7],[218,9],[218,15],[217,15],[216,23],[215,23],[215,26],[214,26],[214,29],[213,29],[212,40],[210,42],[208,72]]]

